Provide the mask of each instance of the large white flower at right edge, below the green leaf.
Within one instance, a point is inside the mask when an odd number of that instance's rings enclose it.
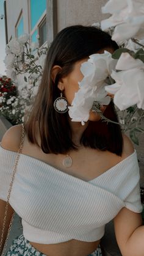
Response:
[[[140,59],[134,59],[129,53],[122,53],[112,71],[115,84],[106,86],[107,92],[114,94],[115,105],[124,110],[137,104],[138,108],[144,109],[144,64]]]

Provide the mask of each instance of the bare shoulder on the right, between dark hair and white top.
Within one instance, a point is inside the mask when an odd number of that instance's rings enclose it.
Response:
[[[123,154],[122,158],[127,158],[129,155],[134,153],[134,146],[131,139],[126,134],[123,134]]]

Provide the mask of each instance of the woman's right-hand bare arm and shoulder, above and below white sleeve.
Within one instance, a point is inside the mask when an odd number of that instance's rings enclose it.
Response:
[[[123,157],[134,152],[132,142],[123,136]],[[123,208],[114,219],[115,235],[123,256],[144,256],[144,225],[142,215]]]

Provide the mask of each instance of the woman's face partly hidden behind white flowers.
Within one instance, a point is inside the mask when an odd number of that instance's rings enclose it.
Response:
[[[74,64],[73,71],[70,74],[63,78],[63,96],[67,98],[68,103],[71,105],[75,93],[79,90],[78,82],[81,82],[84,78],[84,75],[81,73],[81,65],[83,62],[87,61],[87,59],[79,60]],[[104,112],[106,106],[101,107],[101,111]],[[98,121],[101,117],[96,112],[90,112],[90,121]]]

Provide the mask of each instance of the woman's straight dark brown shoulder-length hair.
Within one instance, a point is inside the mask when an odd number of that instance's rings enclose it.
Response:
[[[92,26],[70,26],[60,31],[52,42],[46,56],[45,68],[38,89],[37,97],[31,109],[31,114],[26,118],[25,127],[29,141],[41,147],[45,153],[67,153],[76,150],[71,139],[70,117],[68,112],[59,114],[54,109],[54,100],[60,97],[57,87],[59,79],[67,76],[73,65],[78,60],[97,53],[104,48],[118,48],[110,35]],[[54,65],[62,67],[56,81],[51,78]],[[104,115],[118,122],[113,103],[107,107]],[[38,129],[37,129],[37,128]],[[40,134],[41,145],[38,144]],[[109,150],[121,155],[123,137],[120,125],[106,123],[102,120],[89,122],[81,137],[81,144],[85,147],[99,150]]]

